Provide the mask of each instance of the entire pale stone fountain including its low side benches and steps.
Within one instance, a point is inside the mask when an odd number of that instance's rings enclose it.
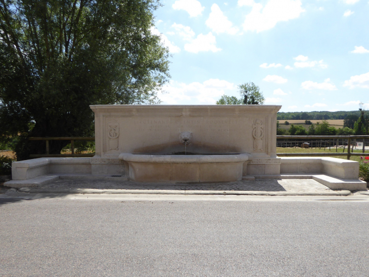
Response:
[[[333,157],[278,157],[275,105],[91,105],[94,157],[47,157],[12,165],[11,187],[59,178],[223,182],[312,178],[365,189],[359,165]],[[119,177],[119,178],[118,178]],[[117,179],[118,178],[118,179]]]

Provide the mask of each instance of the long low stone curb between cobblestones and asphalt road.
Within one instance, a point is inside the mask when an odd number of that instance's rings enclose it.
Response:
[[[242,191],[242,190],[159,190],[159,189],[91,189],[91,188],[28,188],[17,190],[21,193],[62,193],[62,194],[177,194],[177,195],[261,195],[261,196],[347,196],[350,190],[333,191]]]

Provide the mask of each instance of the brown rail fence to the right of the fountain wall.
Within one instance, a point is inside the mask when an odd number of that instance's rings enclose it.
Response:
[[[304,143],[309,143],[309,142],[313,142],[314,140],[320,140],[320,146],[321,146],[321,142],[322,139],[328,139],[329,142],[329,146],[331,145],[331,141],[333,141],[333,145],[336,146],[336,153],[277,153],[278,156],[347,156],[347,160],[350,160],[350,156],[369,156],[369,153],[365,153],[365,139],[369,139],[369,136],[276,136],[277,140],[278,139],[284,139],[284,140],[290,140],[290,139],[299,139],[299,143],[301,146],[303,146]],[[339,140],[342,139],[342,144],[344,146],[343,148],[343,152],[342,153],[338,153],[337,149],[338,149],[338,145],[339,145]],[[354,153],[353,152],[353,147],[354,147],[354,143],[356,144],[357,140],[362,140],[362,153]],[[346,142],[347,141],[347,142]],[[286,146],[288,143],[290,143],[291,141],[287,141],[286,142]],[[296,145],[295,141],[295,145]],[[354,143],[351,143],[354,142]],[[277,145],[278,143],[281,143],[279,141],[277,141]],[[312,143],[311,143],[312,144]],[[291,142],[292,145],[292,142]],[[316,147],[317,143],[315,143],[315,147]],[[345,148],[347,145],[347,153],[345,153]],[[325,148],[327,147],[327,141],[325,141]]]

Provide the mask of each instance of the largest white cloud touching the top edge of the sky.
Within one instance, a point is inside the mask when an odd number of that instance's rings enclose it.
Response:
[[[263,7],[254,3],[243,24],[245,31],[261,32],[271,29],[280,21],[288,21],[300,16],[305,10],[300,0],[270,0]]]

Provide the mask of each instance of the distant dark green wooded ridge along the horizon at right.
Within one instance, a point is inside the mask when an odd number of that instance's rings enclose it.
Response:
[[[277,120],[344,120],[349,114],[360,116],[360,111],[278,112]]]

